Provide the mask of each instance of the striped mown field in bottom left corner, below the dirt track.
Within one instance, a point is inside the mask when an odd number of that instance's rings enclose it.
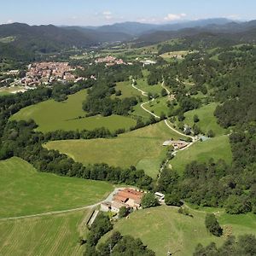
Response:
[[[0,221],[0,255],[83,255],[79,236],[89,211]]]

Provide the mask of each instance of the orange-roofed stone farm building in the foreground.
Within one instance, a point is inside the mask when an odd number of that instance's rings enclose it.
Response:
[[[137,210],[141,207],[144,193],[136,189],[120,189],[111,202],[103,202],[101,210],[103,212],[119,212],[120,207],[132,208]]]

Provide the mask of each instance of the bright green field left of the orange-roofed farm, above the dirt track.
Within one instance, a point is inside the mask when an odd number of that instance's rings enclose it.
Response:
[[[19,158],[0,161],[0,218],[84,207],[101,201],[109,183],[37,172]]]

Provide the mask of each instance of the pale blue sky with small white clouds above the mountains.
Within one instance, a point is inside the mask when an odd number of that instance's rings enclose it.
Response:
[[[124,21],[256,19],[256,0],[0,0],[0,7],[0,24],[101,26]]]

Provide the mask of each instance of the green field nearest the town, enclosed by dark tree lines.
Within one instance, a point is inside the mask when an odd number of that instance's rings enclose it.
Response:
[[[136,121],[129,117],[112,115],[109,117],[93,116],[89,118],[79,119],[84,116],[82,102],[86,96],[86,90],[68,96],[65,102],[55,102],[49,100],[40,102],[26,108],[22,108],[15,113],[11,119],[34,119],[38,126],[38,131],[73,131],[73,130],[94,130],[96,128],[105,127],[110,131],[116,131],[120,128],[129,129],[136,125]]]

